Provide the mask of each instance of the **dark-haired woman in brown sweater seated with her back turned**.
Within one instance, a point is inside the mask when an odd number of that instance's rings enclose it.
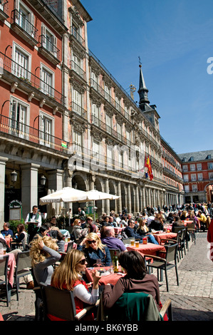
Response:
[[[126,275],[120,277],[114,287],[105,285],[103,291],[103,306],[110,309],[125,292],[144,292],[152,294],[157,308],[160,310],[160,290],[157,277],[147,274],[142,255],[136,251],[121,252],[118,262]]]

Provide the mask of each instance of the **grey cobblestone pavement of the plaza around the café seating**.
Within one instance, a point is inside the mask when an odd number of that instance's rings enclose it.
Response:
[[[174,321],[213,321],[213,263],[207,258],[207,245],[207,232],[198,232],[196,244],[189,242],[189,252],[178,263],[180,285],[175,269],[168,272],[169,292],[165,281],[160,282],[160,299],[162,303],[172,300]],[[34,321],[34,300],[33,290],[23,282],[19,301],[12,292],[9,307],[0,299],[0,312],[5,321]]]

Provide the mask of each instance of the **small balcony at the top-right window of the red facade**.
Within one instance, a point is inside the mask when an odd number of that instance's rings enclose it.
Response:
[[[60,50],[50,41],[50,38],[41,35],[38,37],[38,41],[38,51],[55,66],[60,63]]]

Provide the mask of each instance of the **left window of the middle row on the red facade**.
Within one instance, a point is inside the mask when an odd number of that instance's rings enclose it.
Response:
[[[12,73],[14,76],[30,81],[31,73],[31,55],[29,55],[23,48],[14,43],[14,62],[12,63]]]

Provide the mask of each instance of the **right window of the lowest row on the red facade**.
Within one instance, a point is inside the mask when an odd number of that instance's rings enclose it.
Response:
[[[51,147],[53,143],[53,118],[44,113],[40,113],[40,143]]]

